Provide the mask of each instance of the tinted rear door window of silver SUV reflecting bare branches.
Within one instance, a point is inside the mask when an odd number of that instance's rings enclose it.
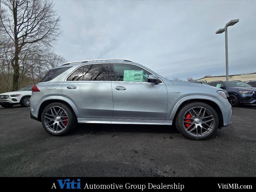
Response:
[[[84,65],[75,70],[68,81],[110,81],[109,64]]]

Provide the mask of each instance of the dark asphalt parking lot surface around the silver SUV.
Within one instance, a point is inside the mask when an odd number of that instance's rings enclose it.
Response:
[[[193,141],[172,126],[85,124],[46,133],[29,108],[0,108],[0,176],[256,176],[256,107]]]

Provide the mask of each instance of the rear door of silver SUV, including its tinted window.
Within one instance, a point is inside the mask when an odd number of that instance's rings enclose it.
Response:
[[[110,64],[86,64],[62,85],[62,93],[76,105],[80,118],[112,118]]]

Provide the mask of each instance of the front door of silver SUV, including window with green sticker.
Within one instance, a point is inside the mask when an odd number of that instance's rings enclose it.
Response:
[[[166,85],[148,83],[148,70],[135,64],[113,63],[113,119],[165,120]]]

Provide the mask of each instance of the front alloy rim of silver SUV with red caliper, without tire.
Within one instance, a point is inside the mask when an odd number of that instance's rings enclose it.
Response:
[[[187,110],[182,118],[182,122],[186,132],[196,137],[209,135],[215,126],[215,119],[212,112],[200,106]]]

